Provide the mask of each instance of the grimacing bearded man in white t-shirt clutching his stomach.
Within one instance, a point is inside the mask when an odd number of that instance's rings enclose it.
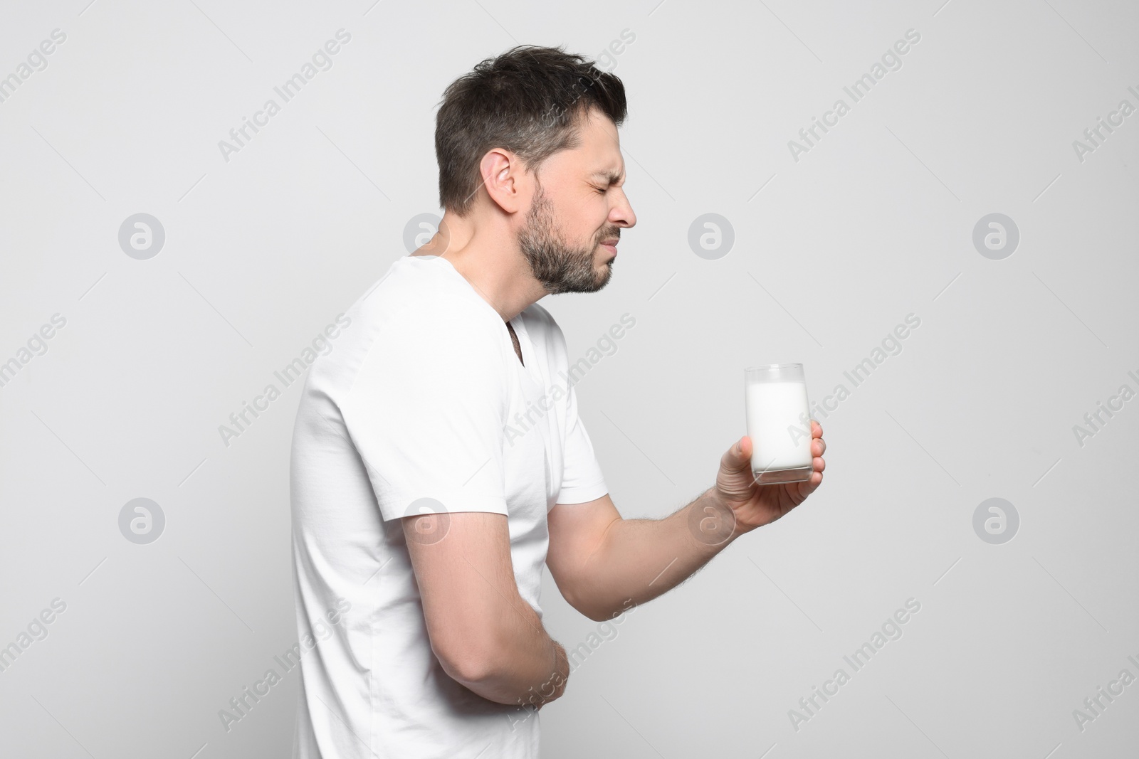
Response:
[[[609,280],[636,223],[624,117],[621,81],[560,49],[515,48],[445,91],[439,233],[346,312],[296,420],[297,622],[327,635],[301,657],[295,756],[536,757],[534,712],[570,674],[542,627],[544,567],[609,619],[821,482],[812,422],[808,482],[756,487],[744,437],[666,519],[609,500],[536,302]]]

